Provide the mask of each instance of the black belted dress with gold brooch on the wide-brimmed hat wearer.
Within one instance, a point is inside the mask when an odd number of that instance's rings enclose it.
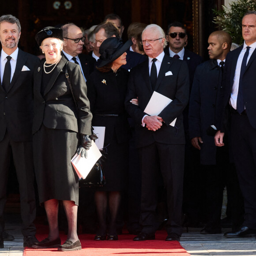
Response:
[[[103,162],[106,185],[102,191],[127,188],[128,141],[130,138],[127,114],[124,109],[129,72],[120,68],[117,73],[96,70],[87,81],[88,99],[93,113],[93,126],[105,127]],[[113,114],[115,116],[108,116]],[[105,115],[105,116],[104,116]]]

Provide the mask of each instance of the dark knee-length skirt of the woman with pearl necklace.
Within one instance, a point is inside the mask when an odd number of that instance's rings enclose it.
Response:
[[[44,125],[33,136],[34,166],[39,201],[71,200],[78,205],[78,176],[71,164],[78,145],[78,134],[49,129]]]

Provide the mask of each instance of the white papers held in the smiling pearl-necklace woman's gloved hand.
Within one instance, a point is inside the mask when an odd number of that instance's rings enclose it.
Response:
[[[101,156],[102,153],[99,151],[94,141],[92,141],[90,149],[87,150],[87,158],[81,157],[80,154],[74,155],[71,159],[71,163],[79,179],[85,179],[87,177],[88,173],[90,173],[90,170]]]

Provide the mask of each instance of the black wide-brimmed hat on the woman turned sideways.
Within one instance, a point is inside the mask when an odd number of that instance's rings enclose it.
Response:
[[[101,61],[97,65],[97,67],[101,68],[106,64],[109,64],[112,61],[116,60],[124,52],[126,52],[131,45],[131,40],[128,40],[125,44],[123,44],[122,40],[120,40],[119,38],[107,38],[102,42],[100,46],[99,53],[101,55]]]

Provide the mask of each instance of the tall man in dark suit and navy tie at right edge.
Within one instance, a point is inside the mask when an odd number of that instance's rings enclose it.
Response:
[[[245,215],[241,229],[226,237],[256,236],[256,11],[242,19],[244,44],[226,57],[225,112],[215,135],[216,146],[224,146],[230,128],[234,162],[244,197]],[[229,127],[228,127],[229,126]]]

